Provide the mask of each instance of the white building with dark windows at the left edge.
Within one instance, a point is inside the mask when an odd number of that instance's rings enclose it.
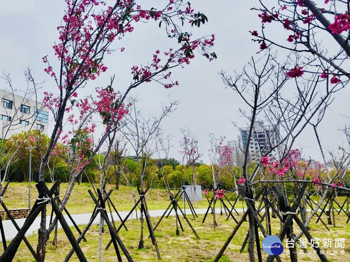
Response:
[[[48,134],[48,107],[1,89],[0,98],[0,139],[8,139],[12,134],[30,129]]]

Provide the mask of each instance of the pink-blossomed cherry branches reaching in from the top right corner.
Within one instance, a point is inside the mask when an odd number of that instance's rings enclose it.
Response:
[[[253,9],[261,18],[261,30],[255,28],[251,34],[260,50],[274,46],[302,54],[305,59],[290,68],[294,74],[302,74],[307,66],[308,71],[330,79],[331,83],[350,77],[344,66],[350,55],[347,1],[259,0],[259,3]],[[281,34],[274,34],[278,28]]]

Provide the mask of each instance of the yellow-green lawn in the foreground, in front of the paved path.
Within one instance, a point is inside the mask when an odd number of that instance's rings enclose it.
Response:
[[[169,261],[169,262],[211,262],[218,251],[221,249],[222,245],[232,232],[236,223],[230,219],[229,221],[225,221],[225,216],[217,216],[218,218],[218,227],[212,227],[212,216],[209,216],[208,219],[202,224],[203,215],[200,215],[198,219],[191,219],[191,223],[200,236],[200,240],[198,240],[193,232],[190,230],[189,226],[183,221],[184,232],[180,231],[180,236],[175,235],[175,219],[174,217],[169,217],[168,219],[164,219],[160,226],[155,231],[155,235],[157,238],[158,246],[160,249],[162,260],[157,259],[157,255],[155,253],[154,246],[150,239],[147,239],[147,233],[145,238],[145,248],[139,250],[138,240],[140,237],[140,222],[139,220],[128,221],[127,227],[128,231],[124,228],[119,232],[120,238],[123,240],[125,246],[130,252],[133,260],[135,262],[155,262],[155,261]],[[323,238],[332,238],[332,248],[325,249],[325,255],[330,262],[344,262],[350,261],[350,224],[345,224],[347,217],[345,214],[341,214],[336,216],[336,228],[329,226],[330,231],[327,231],[324,226],[319,222],[315,224],[316,219],[313,219],[310,224],[310,234],[314,238],[320,238],[321,248],[322,248],[322,239]],[[153,218],[154,221],[158,221],[158,218]],[[239,216],[237,216],[239,219]],[[325,221],[327,221],[325,219]],[[155,222],[153,222],[154,224]],[[327,222],[326,222],[327,223]],[[262,223],[265,225],[265,221]],[[84,226],[80,226],[83,228]],[[105,226],[106,228],[106,226]],[[239,250],[242,246],[243,240],[247,234],[248,223],[245,222],[238,230],[235,237],[232,239],[230,245],[226,249],[224,257],[222,257],[221,262],[246,262],[249,261],[247,250],[243,253],[239,253]],[[74,228],[72,228],[73,233],[77,237],[77,233]],[[280,231],[280,223],[278,219],[272,219],[272,232],[273,234],[278,234]],[[294,223],[294,232],[299,233],[299,229]],[[260,245],[263,239],[262,234],[260,234]],[[58,245],[57,250],[54,250],[52,246],[52,237],[50,236],[50,240],[48,241],[47,246],[47,255],[45,261],[63,261],[66,254],[68,254],[70,250],[70,243],[64,235],[63,230],[58,230]],[[340,254],[340,250],[342,248],[335,248],[334,241],[335,238],[345,238],[345,251],[344,255]],[[88,233],[86,234],[87,242],[81,242],[80,247],[82,248],[87,261],[97,262],[98,261],[98,227],[97,225],[93,225]],[[29,236],[28,240],[33,244],[35,250],[35,243],[37,242],[37,235]],[[108,230],[105,230],[103,234],[103,246],[105,247],[110,240],[110,235]],[[285,247],[285,243],[283,246]],[[2,249],[2,246],[0,247]],[[299,254],[301,249],[297,249],[298,252],[298,261],[311,261],[318,262],[318,256],[313,254],[313,249],[310,249],[310,245],[308,244],[308,250],[311,250],[311,254]],[[286,250],[286,249],[285,249]],[[327,250],[331,254],[327,254]],[[338,250],[338,254],[333,254],[333,250]],[[2,251],[2,250],[1,250]],[[261,250],[263,255],[263,260],[265,261],[267,255]],[[281,255],[281,260],[290,261],[288,256],[284,251]],[[109,248],[109,250],[103,249],[104,254],[104,262],[114,262],[117,261],[116,255],[114,253],[113,245]],[[26,262],[26,261],[34,261],[31,258],[31,255],[22,242],[19,248],[18,253],[16,254],[14,261]],[[74,254],[70,261],[78,261],[76,255]],[[124,261],[124,260],[123,260]],[[126,260],[125,260],[126,261]]]

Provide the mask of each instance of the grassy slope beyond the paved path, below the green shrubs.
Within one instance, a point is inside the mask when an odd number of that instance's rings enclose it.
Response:
[[[48,188],[50,188],[52,183],[47,183]],[[63,199],[68,183],[61,183],[60,198]],[[112,189],[111,185],[107,186],[107,191]],[[66,205],[67,210],[71,214],[83,214],[92,213],[94,204],[87,192],[91,190],[92,186],[89,183],[82,183],[81,185],[76,184],[73,188],[72,194]],[[5,192],[5,196],[2,201],[6,204],[8,209],[18,209],[18,208],[28,208],[28,183],[17,183],[11,182]],[[137,194],[137,189],[135,189]],[[173,191],[175,194],[177,191]],[[227,194],[229,197],[231,193]],[[31,183],[31,203],[33,206],[36,198],[38,196],[38,191],[35,187],[35,183]],[[211,193],[210,193],[211,197]],[[130,211],[132,206],[135,204],[130,188],[126,186],[120,186],[119,190],[114,190],[110,196],[113,204],[116,206],[118,211]],[[230,199],[231,200],[231,199]],[[169,194],[166,189],[152,189],[147,195],[147,205],[150,210],[166,209],[170,204]],[[179,202],[180,206],[183,206],[183,202]],[[233,202],[232,202],[233,204]],[[217,208],[219,208],[219,203],[217,203]],[[245,204],[244,204],[245,206]],[[236,208],[242,208],[242,201],[238,202],[235,206]],[[198,201],[195,208],[208,208],[208,201],[203,195],[203,200]],[[3,210],[0,206],[0,210]]]

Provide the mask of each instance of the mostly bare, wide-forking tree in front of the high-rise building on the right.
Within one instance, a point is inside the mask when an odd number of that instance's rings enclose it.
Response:
[[[241,166],[243,176],[238,184],[244,194],[247,205],[254,206],[253,185],[257,183],[277,183],[277,193],[280,199],[287,203],[285,183],[297,183],[297,187],[306,182],[297,163],[300,152],[294,150],[295,140],[307,125],[319,123],[331,102],[334,94],[342,89],[346,81],[331,82],[329,78],[321,78],[314,72],[307,72],[300,68],[299,61],[304,58],[292,53],[288,61],[277,61],[275,54],[268,51],[262,58],[254,59],[243,69],[243,72],[232,77],[221,72],[227,87],[232,88],[246,103],[248,110],[239,109],[247,119],[247,142],[244,149],[244,163]],[[294,65],[290,69],[289,65]],[[288,87],[288,88],[287,88]],[[293,95],[291,96],[291,90]],[[259,141],[254,137],[254,124],[258,120],[267,122],[269,128],[265,131],[265,139]],[[273,135],[272,135],[273,134]],[[250,142],[259,141],[257,151],[260,161],[255,163],[253,170],[248,172]],[[277,149],[279,154],[274,157],[271,153]],[[316,179],[316,178],[315,178]],[[317,184],[318,181],[311,181]],[[326,188],[331,186],[331,179],[321,182]],[[318,203],[321,205],[321,203]],[[317,209],[319,206],[317,207]],[[309,222],[314,213],[307,218]],[[257,228],[253,214],[248,213],[249,240],[248,252],[250,261],[255,261],[254,242],[258,245]],[[306,224],[307,226],[307,224]],[[263,232],[264,236],[266,232]],[[288,235],[289,234],[289,235]],[[289,231],[288,237],[293,236]],[[298,235],[300,238],[301,234]],[[260,245],[260,244],[259,244]],[[219,253],[214,261],[222,255]]]

